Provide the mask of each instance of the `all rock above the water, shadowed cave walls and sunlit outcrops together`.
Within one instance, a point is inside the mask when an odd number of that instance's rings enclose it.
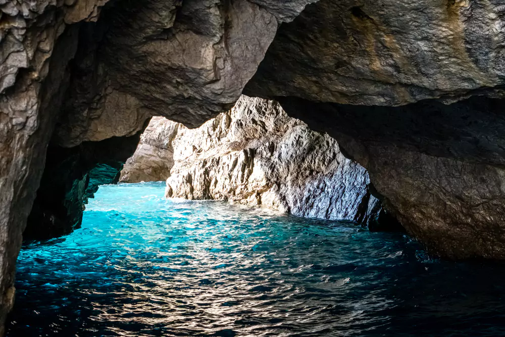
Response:
[[[4,0],[0,18],[0,335],[23,240],[71,235],[119,180],[505,259],[500,2]]]

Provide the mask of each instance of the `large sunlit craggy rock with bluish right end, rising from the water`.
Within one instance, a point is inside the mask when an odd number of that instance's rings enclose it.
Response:
[[[201,127],[181,127],[173,147],[167,197],[265,205],[372,226],[382,209],[366,170],[274,101],[242,96]]]

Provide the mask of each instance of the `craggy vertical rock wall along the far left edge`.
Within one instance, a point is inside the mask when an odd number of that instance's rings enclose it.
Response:
[[[59,88],[69,81],[66,65],[77,47],[76,29],[64,29],[61,13],[54,8],[45,10],[44,5],[33,2],[23,11],[13,2],[2,5],[0,335],[14,303],[22,231],[63,101]]]

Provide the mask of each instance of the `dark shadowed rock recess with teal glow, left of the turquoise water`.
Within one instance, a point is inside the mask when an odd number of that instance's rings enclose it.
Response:
[[[86,141],[73,148],[49,145],[23,238],[53,238],[80,228],[88,198],[93,198],[99,185],[119,181],[123,163],[135,151],[140,133]]]

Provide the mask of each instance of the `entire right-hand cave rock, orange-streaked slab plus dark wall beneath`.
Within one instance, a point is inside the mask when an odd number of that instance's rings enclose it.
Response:
[[[322,0],[279,28],[244,92],[337,139],[432,253],[502,259],[503,10]]]

